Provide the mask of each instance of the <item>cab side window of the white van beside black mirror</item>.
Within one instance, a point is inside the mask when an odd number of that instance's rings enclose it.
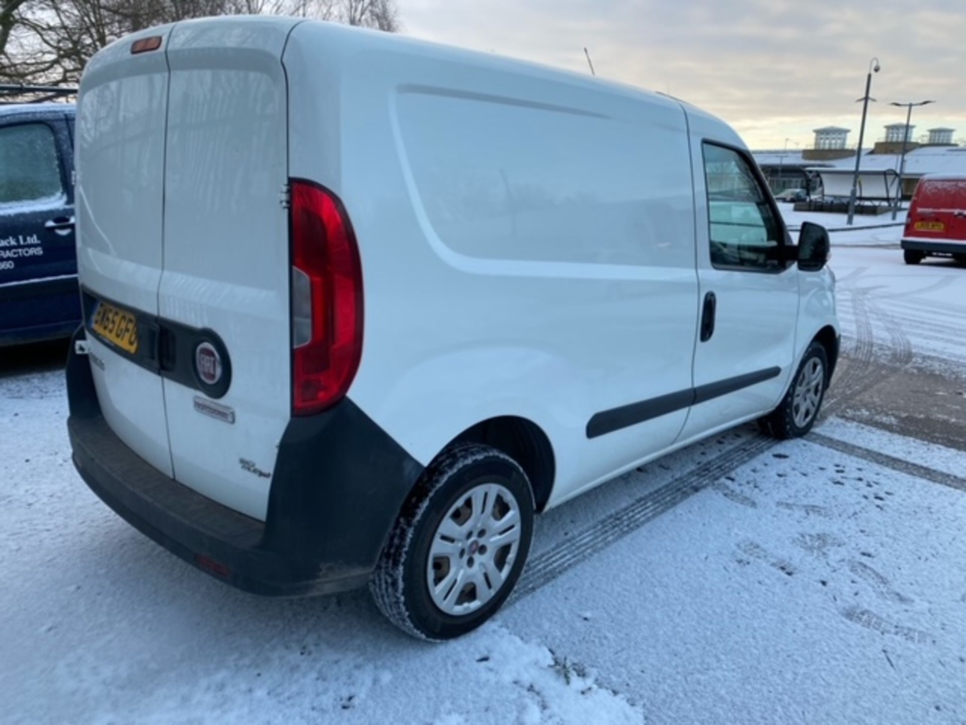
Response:
[[[711,264],[762,271],[784,269],[775,252],[781,224],[749,162],[724,146],[705,143]]]

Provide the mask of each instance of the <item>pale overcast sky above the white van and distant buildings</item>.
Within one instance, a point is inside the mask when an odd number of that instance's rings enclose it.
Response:
[[[399,0],[404,32],[668,92],[717,114],[752,148],[811,146],[820,126],[866,144],[904,122],[966,138],[966,0]]]

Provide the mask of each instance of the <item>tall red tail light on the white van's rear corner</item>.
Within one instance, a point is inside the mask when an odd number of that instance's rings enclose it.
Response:
[[[349,216],[331,191],[292,188],[292,409],[318,413],[349,390],[362,353],[362,270]]]

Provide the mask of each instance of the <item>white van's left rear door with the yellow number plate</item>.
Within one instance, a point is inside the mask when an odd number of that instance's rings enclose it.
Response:
[[[166,26],[128,36],[88,64],[77,106],[74,193],[77,267],[100,409],[130,449],[170,476],[161,379],[150,369],[161,277],[168,68],[163,52],[131,52],[138,39],[159,36],[163,44],[169,32]],[[115,332],[130,320],[143,329],[108,342],[94,332],[98,315]]]

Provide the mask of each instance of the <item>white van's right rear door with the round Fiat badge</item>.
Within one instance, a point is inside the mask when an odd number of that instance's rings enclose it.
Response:
[[[281,56],[296,22],[185,21],[167,43],[158,315],[176,358],[163,382],[174,478],[259,519],[292,410]]]

